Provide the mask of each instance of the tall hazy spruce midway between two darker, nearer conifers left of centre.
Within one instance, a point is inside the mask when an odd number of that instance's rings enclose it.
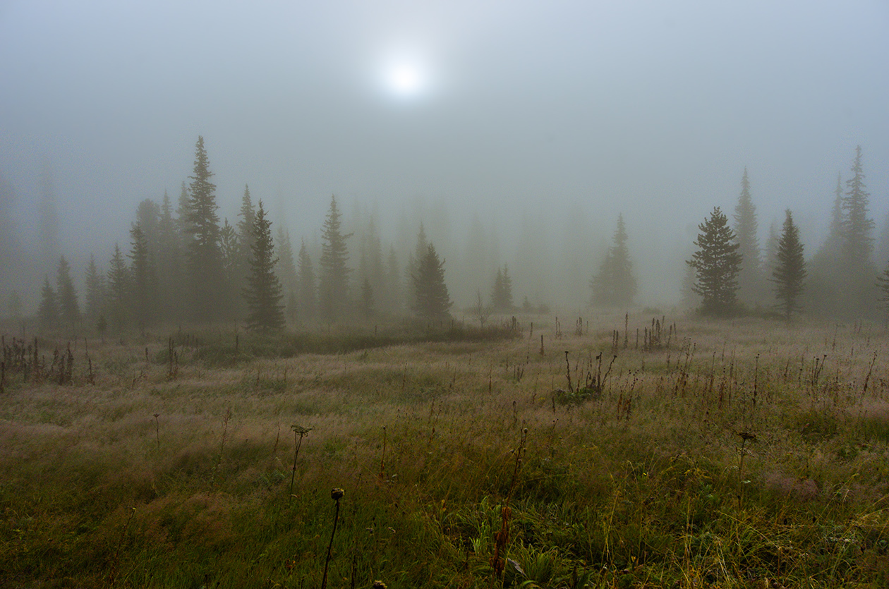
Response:
[[[343,235],[340,209],[336,197],[331,197],[330,211],[321,230],[321,261],[318,264],[318,303],[321,315],[332,321],[348,308],[348,248],[346,240],[352,234]]]

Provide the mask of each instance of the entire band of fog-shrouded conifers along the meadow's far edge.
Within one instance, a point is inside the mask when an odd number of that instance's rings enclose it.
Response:
[[[60,251],[60,221],[52,199],[44,199],[39,251],[33,251],[16,234],[14,190],[0,179],[0,316],[43,330],[83,325],[116,332],[183,322],[238,322],[278,330],[312,322],[444,319],[457,308],[455,290],[464,316],[483,325],[493,313],[549,311],[551,301],[540,294],[539,283],[532,284],[536,268],[546,265],[540,251],[545,248],[534,247],[528,227],[522,228],[525,259],[539,259],[533,268],[510,267],[496,239],[488,239],[475,219],[469,229],[469,263],[464,260],[454,289],[447,260],[436,251],[422,220],[409,248],[384,245],[371,213],[353,216],[344,227],[341,205],[332,195],[320,239],[294,239],[284,225],[269,219],[249,186],[244,186],[236,218],[220,219],[212,180],[210,156],[198,138],[192,175],[175,200],[164,192],[159,203],[139,203],[129,240],[116,243],[109,259],[90,254],[84,275],[75,276],[69,259],[85,259],[86,252]],[[733,211],[725,214],[715,207],[701,219],[697,239],[689,244],[692,255],[676,264],[684,276],[685,307],[703,314],[788,319],[800,313],[850,321],[889,317],[889,219],[877,235],[861,147],[846,179],[837,176],[829,233],[817,247],[800,242],[789,210],[783,225],[770,227],[760,243],[750,185],[745,169]],[[52,187],[44,188],[52,194]],[[589,306],[636,305],[645,276],[635,270],[632,240],[620,215],[604,255],[587,254],[600,260],[591,265],[592,272],[574,273],[563,288]],[[32,284],[25,288],[23,282]],[[528,294],[517,300],[514,291]]]

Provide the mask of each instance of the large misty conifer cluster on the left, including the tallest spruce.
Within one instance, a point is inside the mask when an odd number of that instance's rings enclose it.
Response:
[[[403,272],[394,247],[384,257],[371,220],[353,268],[349,241],[355,235],[345,232],[332,196],[321,227],[320,255],[313,260],[304,239],[294,253],[289,232],[272,230],[264,204],[253,203],[249,186],[235,222],[220,219],[213,175],[199,137],[192,175],[182,183],[176,210],[166,192],[160,204],[141,202],[129,243],[115,244],[105,269],[91,256],[83,317],[62,257],[54,286],[44,276],[40,326],[63,329],[83,319],[99,331],[116,332],[170,322],[234,321],[250,330],[282,330],[287,322],[407,313],[440,320],[449,315],[453,301],[445,284],[445,259],[422,225],[416,256]]]

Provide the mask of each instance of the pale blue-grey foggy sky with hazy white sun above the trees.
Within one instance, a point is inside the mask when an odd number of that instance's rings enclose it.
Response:
[[[861,145],[876,238],[887,105],[882,0],[7,0],[0,244],[20,249],[0,298],[33,312],[53,272],[40,251],[82,291],[140,201],[179,195],[200,135],[220,218],[249,185],[297,249],[317,248],[336,195],[402,263],[422,222],[455,306],[506,263],[517,302],[573,311],[622,214],[637,302],[669,306],[745,167],[760,243],[790,208],[811,256]],[[41,245],[53,215],[58,243]]]

